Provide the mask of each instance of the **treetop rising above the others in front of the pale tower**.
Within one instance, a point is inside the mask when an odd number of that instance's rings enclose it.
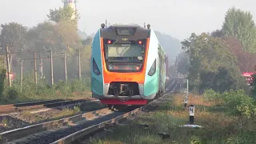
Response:
[[[59,8],[58,10],[50,10],[50,14],[47,14],[50,21],[53,22],[69,22],[75,28],[78,28],[79,14],[77,10],[74,10],[70,6]]]

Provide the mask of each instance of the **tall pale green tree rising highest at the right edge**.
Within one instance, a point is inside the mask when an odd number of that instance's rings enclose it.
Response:
[[[234,7],[226,12],[225,22],[222,25],[226,37],[237,38],[243,50],[256,53],[256,29],[252,14]]]

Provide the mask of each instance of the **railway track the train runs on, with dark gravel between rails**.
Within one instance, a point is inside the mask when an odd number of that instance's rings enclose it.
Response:
[[[170,85],[175,88],[177,82]],[[170,89],[172,88],[170,87]],[[170,93],[166,91],[166,93]],[[154,100],[156,101],[156,100]],[[154,102],[153,101],[153,102]],[[146,105],[147,106],[147,105]],[[102,130],[105,126],[118,123],[134,114],[138,114],[145,106],[136,109],[130,107],[126,112],[116,112],[108,108],[78,114],[69,118],[44,122],[33,126],[10,130],[0,134],[1,142],[6,143],[70,143],[84,138],[88,134]]]

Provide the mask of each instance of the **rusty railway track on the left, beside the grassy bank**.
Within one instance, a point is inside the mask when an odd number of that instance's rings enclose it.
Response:
[[[36,110],[42,108],[52,108],[57,106],[74,106],[79,103],[86,101],[93,101],[93,98],[80,98],[80,99],[55,99],[48,101],[40,101],[40,102],[26,102],[26,103],[18,103],[18,104],[10,104],[10,105],[0,105],[0,114],[7,114],[11,112],[19,112],[22,110]]]

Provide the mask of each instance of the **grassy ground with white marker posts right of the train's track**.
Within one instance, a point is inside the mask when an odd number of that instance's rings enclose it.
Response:
[[[255,101],[241,90],[216,94],[208,90],[203,96],[190,94],[189,103],[195,105],[195,124],[202,128],[180,127],[189,119],[183,109],[183,94],[174,94],[172,100],[156,111],[142,114],[129,126],[118,126],[106,138],[95,139],[98,144],[165,144],[207,143],[233,144],[256,142]],[[149,124],[148,129],[138,124]],[[158,132],[170,134],[163,140]]]

